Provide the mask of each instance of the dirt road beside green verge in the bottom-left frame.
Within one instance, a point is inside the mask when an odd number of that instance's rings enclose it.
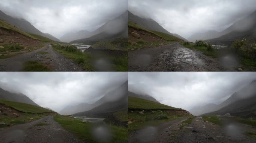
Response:
[[[37,123],[49,125],[34,126]],[[0,135],[1,143],[79,143],[72,134],[54,121],[52,116],[27,124],[2,128]]]

